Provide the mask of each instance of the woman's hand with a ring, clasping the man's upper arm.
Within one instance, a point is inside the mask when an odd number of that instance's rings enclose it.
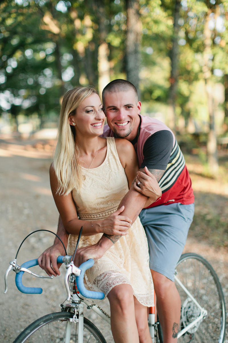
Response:
[[[137,172],[136,182],[134,183],[134,189],[149,197],[151,202],[153,202],[161,196],[161,188],[158,185],[158,178],[151,174],[147,167],[145,167],[144,170],[145,173],[143,173],[143,171]],[[159,172],[160,179],[164,174],[164,170],[159,170]],[[137,186],[138,182],[140,182],[139,186]]]

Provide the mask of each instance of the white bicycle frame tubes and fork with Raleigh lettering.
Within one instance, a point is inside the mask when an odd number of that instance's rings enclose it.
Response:
[[[198,322],[202,321],[204,317],[207,316],[207,311],[199,305],[199,303],[196,301],[196,299],[190,294],[190,292],[187,290],[187,288],[182,284],[182,282],[177,278],[176,275],[174,275],[175,281],[178,283],[178,285],[183,289],[183,291],[186,293],[186,295],[195,303],[195,305],[199,308],[200,310],[200,315],[197,319],[193,320],[190,324],[185,326],[184,329],[182,329],[178,335],[177,339],[180,338],[185,332],[187,332],[190,328],[194,327]],[[80,297],[82,297],[79,294]],[[84,312],[84,304],[87,305],[83,300],[78,301],[79,298],[76,294],[73,294],[72,300],[74,302],[77,302],[77,311],[78,311],[78,319],[76,319],[76,322],[78,322],[78,343],[83,343],[83,312]],[[84,304],[82,303],[84,302]],[[88,302],[88,300],[85,300]],[[110,324],[110,316],[103,311],[99,306],[97,305],[91,305],[89,306],[98,316],[100,316],[102,319],[104,319],[107,323]],[[65,338],[65,343],[70,343],[70,334],[71,334],[71,327],[72,327],[72,322],[73,319],[70,319],[67,323],[67,328],[66,328],[66,338]],[[155,328],[156,328],[156,323],[155,323],[155,314],[149,314],[149,331],[150,331],[150,336],[152,339],[152,342],[155,343]]]

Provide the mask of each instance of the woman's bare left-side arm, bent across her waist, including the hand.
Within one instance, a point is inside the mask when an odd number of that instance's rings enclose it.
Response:
[[[118,209],[107,219],[96,221],[85,221],[78,219],[78,214],[73,201],[72,193],[68,195],[56,194],[58,180],[53,166],[50,167],[50,184],[55,200],[56,207],[62,218],[63,225],[69,234],[78,235],[81,226],[83,226],[83,236],[92,236],[98,233],[110,233],[125,235],[126,229],[130,227],[130,219],[126,216],[119,215],[124,209]]]

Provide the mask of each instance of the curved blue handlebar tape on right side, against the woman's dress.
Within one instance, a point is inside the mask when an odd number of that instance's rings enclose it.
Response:
[[[76,284],[79,292],[81,295],[85,298],[90,298],[90,299],[104,299],[105,295],[103,292],[94,292],[94,291],[88,291],[88,289],[85,288],[83,278],[84,278],[84,273],[87,269],[93,267],[94,265],[94,260],[89,259],[88,261],[82,263],[80,265],[81,269],[81,274],[79,276],[76,276]]]

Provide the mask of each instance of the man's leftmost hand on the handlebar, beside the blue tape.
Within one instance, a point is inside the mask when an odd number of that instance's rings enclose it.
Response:
[[[61,263],[57,263],[58,256],[65,256],[65,250],[61,244],[53,244],[51,247],[46,249],[38,258],[40,268],[44,269],[45,272],[51,276],[60,275],[59,267]]]

